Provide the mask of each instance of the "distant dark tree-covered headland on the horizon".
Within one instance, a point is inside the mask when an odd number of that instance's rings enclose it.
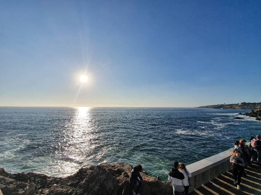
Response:
[[[217,105],[209,105],[209,106],[199,106],[197,108],[218,108],[218,109],[259,109],[261,108],[261,102],[259,103],[233,103],[233,104],[217,104]]]

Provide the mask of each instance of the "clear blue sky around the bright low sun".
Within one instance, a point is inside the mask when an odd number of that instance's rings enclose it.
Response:
[[[260,102],[260,76],[261,1],[0,0],[0,106]]]

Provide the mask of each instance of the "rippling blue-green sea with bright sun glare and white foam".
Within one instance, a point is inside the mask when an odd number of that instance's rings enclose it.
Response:
[[[172,162],[190,164],[261,134],[239,112],[197,108],[0,107],[0,167],[67,176],[102,162],[141,163],[166,179]]]

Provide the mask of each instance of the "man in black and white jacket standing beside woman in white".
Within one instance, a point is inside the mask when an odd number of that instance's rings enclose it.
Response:
[[[179,172],[179,162],[173,162],[174,167],[170,170],[169,182],[171,182],[173,187],[174,195],[184,195],[184,184],[183,179],[185,178],[183,173]]]

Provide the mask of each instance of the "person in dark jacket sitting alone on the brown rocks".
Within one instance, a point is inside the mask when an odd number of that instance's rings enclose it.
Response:
[[[140,172],[142,172],[142,166],[140,164],[137,164],[131,170],[130,185],[131,185],[131,189],[133,189],[132,190],[133,195],[141,195],[143,179],[140,176]]]

